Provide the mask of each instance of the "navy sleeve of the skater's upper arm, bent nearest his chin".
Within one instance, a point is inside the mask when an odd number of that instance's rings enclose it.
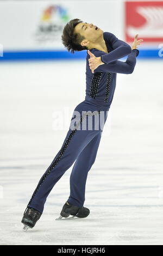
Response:
[[[114,34],[110,32],[104,32],[104,34],[106,36],[106,40],[109,42],[109,45],[114,50],[101,56],[103,63],[108,64],[131,53],[131,47],[126,42],[118,39]]]

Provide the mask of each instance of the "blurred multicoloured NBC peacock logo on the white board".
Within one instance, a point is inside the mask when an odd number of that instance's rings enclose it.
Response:
[[[35,39],[39,42],[60,41],[62,30],[70,20],[67,10],[61,5],[50,5],[40,15]]]

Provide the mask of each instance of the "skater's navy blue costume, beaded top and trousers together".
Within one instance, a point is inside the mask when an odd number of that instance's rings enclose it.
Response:
[[[27,205],[41,214],[48,194],[73,163],[70,176],[70,196],[67,198],[67,202],[79,208],[83,207],[87,173],[96,159],[103,127],[115,92],[116,74],[131,74],[134,70],[139,50],[131,50],[126,42],[119,40],[112,33],[104,32],[103,37],[108,53],[96,48],[92,48],[90,51],[96,57],[101,56],[105,64],[99,65],[92,73],[89,67],[90,56],[87,53],[85,100],[74,108],[70,129],[65,140],[54,160],[42,175]],[[126,62],[118,60],[124,56],[128,56]],[[89,120],[92,120],[92,123],[90,122],[91,129]]]

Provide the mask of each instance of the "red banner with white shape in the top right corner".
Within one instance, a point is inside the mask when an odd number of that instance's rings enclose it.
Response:
[[[126,41],[163,42],[163,1],[125,2]]]

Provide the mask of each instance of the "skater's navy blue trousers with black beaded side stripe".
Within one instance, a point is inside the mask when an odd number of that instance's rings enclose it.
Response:
[[[42,214],[48,194],[74,162],[70,176],[70,196],[67,200],[70,204],[83,206],[87,173],[96,159],[108,109],[92,105],[86,100],[76,106],[64,143],[42,175],[28,207]]]

